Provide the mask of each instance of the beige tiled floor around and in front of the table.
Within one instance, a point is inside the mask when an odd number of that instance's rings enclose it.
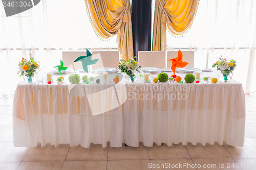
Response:
[[[256,169],[256,95],[246,96],[246,136],[242,148],[190,143],[172,147],[144,147],[140,143],[138,148],[102,148],[99,144],[91,144],[89,149],[68,144],[57,148],[16,148],[12,143],[12,100],[0,99],[0,169],[161,169],[150,167],[167,163],[188,166],[169,169]],[[194,168],[196,164],[217,167]]]

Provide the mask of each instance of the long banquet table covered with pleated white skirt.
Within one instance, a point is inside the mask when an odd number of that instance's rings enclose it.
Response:
[[[216,72],[212,74],[217,74]],[[184,78],[185,75],[179,73]],[[217,77],[217,76],[216,76]],[[151,147],[223,142],[243,147],[242,84],[125,83],[17,85],[13,103],[16,147],[90,143]]]

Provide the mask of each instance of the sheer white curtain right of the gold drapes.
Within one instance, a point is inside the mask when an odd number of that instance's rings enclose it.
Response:
[[[233,79],[246,93],[256,91],[256,2],[200,1],[191,30],[183,37],[167,34],[168,50],[195,51],[195,67],[211,67],[220,55],[237,60]]]

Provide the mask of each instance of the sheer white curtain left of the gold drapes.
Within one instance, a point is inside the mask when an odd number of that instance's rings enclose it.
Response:
[[[62,51],[117,48],[115,37],[108,41],[97,38],[83,1],[42,0],[10,17],[1,3],[0,16],[0,94],[10,93],[23,81],[16,75],[18,61],[29,58],[30,53],[41,66],[52,68],[59,64]]]

